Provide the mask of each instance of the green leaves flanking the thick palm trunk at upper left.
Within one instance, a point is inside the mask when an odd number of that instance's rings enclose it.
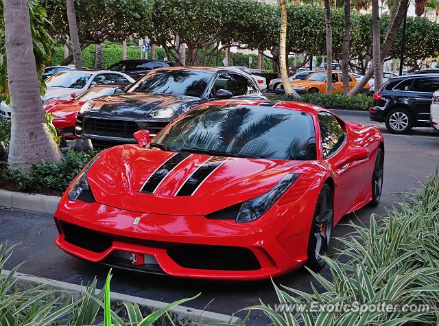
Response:
[[[51,38],[45,26],[49,26],[47,13],[38,0],[28,0],[30,30],[34,40],[34,56],[36,71],[40,81],[40,93],[44,95],[46,84],[43,81],[45,64],[50,62],[54,40]],[[3,1],[0,2],[0,95],[9,103],[8,75],[6,67],[6,43],[5,43],[5,21],[3,19]]]

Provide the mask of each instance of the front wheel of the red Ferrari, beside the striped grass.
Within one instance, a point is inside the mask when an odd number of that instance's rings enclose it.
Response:
[[[326,264],[321,256],[328,253],[334,224],[334,205],[331,187],[323,185],[316,204],[308,240],[308,261],[305,266],[319,272]]]

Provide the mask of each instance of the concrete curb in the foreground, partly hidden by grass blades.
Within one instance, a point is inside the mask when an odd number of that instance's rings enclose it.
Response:
[[[1,274],[8,275],[9,270],[2,270]],[[53,279],[45,279],[43,277],[35,277],[32,275],[25,275],[20,272],[16,272],[13,276],[15,279],[14,287],[20,290],[27,290],[29,288],[35,288],[40,286],[43,290],[64,290],[69,292],[69,296],[73,299],[78,300],[84,294],[86,287],[78,286],[77,284],[67,283],[63,281],[56,281]],[[100,289],[96,289],[97,292]],[[53,294],[54,298],[60,298],[60,294]],[[63,297],[63,295],[61,295]],[[137,303],[143,314],[150,314],[159,310],[168,303],[162,301],[155,301],[150,299],[143,299],[139,296],[131,296],[128,294],[121,294],[117,292],[110,292],[110,301],[112,307],[120,307],[123,302],[126,303]],[[173,307],[169,310],[169,314],[173,320],[182,322],[181,325],[186,325],[188,321],[195,324],[197,323],[233,323],[239,324],[241,322],[240,318],[235,316],[229,316],[226,314],[218,314],[216,312],[209,312],[206,310],[194,309],[185,306]],[[163,323],[162,323],[163,324]]]

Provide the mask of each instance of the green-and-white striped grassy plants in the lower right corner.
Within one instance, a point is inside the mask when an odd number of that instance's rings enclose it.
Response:
[[[339,261],[324,257],[330,280],[311,272],[315,282],[310,294],[274,285],[279,307],[273,303],[248,307],[261,310],[273,325],[438,325],[439,312],[439,173],[422,190],[387,211],[372,215],[370,226],[351,222],[354,232],[338,238]],[[346,259],[348,257],[348,259]],[[365,305],[392,305],[394,311],[311,311],[316,305],[363,309]],[[288,305],[296,310],[288,310]],[[360,305],[364,305],[361,307]],[[424,307],[403,311],[403,305]],[[300,307],[299,309],[297,309]],[[328,306],[327,306],[328,307]],[[214,324],[210,324],[214,325]]]

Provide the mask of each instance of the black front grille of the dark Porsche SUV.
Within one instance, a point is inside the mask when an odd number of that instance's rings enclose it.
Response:
[[[86,118],[84,134],[106,137],[132,138],[132,134],[139,130],[134,121]]]

